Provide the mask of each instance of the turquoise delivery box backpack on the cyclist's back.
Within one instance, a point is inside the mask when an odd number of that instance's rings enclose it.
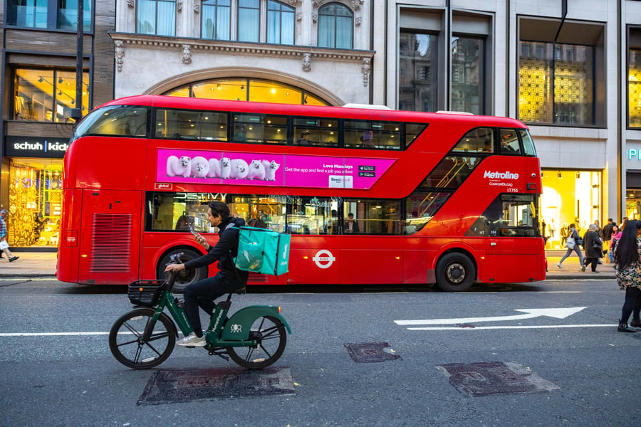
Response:
[[[288,272],[289,234],[255,227],[239,229],[236,268],[269,275]]]

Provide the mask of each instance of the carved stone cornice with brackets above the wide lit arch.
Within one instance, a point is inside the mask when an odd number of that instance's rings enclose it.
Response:
[[[266,43],[241,43],[239,41],[203,40],[200,38],[153,36],[150,34],[109,33],[116,48],[115,58],[118,71],[122,70],[126,46],[139,46],[156,50],[174,51],[176,61],[189,64],[192,55],[202,53],[220,53],[227,55],[247,55],[256,57],[271,56],[275,58],[299,58],[303,70],[310,71],[313,60],[346,61],[358,63],[365,67],[367,75],[375,51],[357,51],[353,49],[318,48],[314,46],[283,46]],[[119,60],[120,58],[120,60]],[[367,60],[367,61],[365,61]],[[363,71],[365,75],[365,71]],[[367,83],[365,83],[367,85]]]

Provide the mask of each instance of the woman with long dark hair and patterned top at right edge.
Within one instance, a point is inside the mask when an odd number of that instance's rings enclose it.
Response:
[[[625,302],[619,319],[619,332],[636,332],[627,326],[641,328],[641,222],[627,221],[621,238],[614,248],[615,272],[619,288],[625,289]]]

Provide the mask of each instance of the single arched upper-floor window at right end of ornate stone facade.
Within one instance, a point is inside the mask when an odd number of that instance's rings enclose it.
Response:
[[[318,47],[351,49],[354,14],[347,6],[327,4],[318,9]]]

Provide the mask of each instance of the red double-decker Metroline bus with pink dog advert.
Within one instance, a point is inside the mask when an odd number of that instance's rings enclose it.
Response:
[[[543,280],[541,169],[504,117],[141,95],[98,107],[65,157],[59,280],[164,278],[214,244],[207,202],[291,233],[289,273],[249,283]],[[215,266],[185,271],[184,286]]]

